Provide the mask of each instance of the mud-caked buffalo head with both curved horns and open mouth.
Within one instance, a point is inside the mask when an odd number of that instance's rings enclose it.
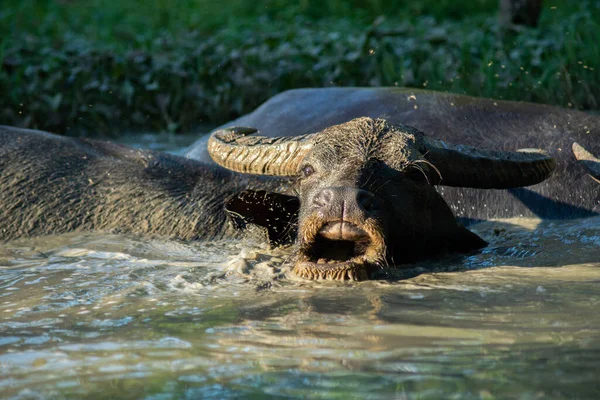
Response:
[[[434,185],[528,186],[554,169],[554,160],[541,151],[453,146],[383,119],[358,118],[296,137],[247,136],[252,133],[217,131],[209,152],[234,171],[297,177],[299,203],[291,196],[246,192],[235,214],[262,221],[275,242],[290,235],[297,218],[294,271],[309,279],[367,279],[388,265],[481,248],[486,243],[456,222]],[[266,212],[256,210],[261,202]]]

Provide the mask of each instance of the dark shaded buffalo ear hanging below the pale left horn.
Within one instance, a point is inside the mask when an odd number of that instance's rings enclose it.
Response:
[[[265,190],[245,190],[225,203],[225,212],[236,229],[246,230],[252,225],[263,228],[272,246],[294,242],[299,208],[297,197]]]

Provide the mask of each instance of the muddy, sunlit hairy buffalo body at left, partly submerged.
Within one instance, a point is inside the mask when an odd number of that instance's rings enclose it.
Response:
[[[69,231],[235,235],[223,204],[272,179],[119,144],[0,127],[0,239]]]

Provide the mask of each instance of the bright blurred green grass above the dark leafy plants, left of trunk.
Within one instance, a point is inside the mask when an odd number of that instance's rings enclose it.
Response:
[[[257,17],[294,23],[305,18],[348,18],[371,23],[380,15],[405,19],[431,15],[461,19],[465,15],[493,13],[496,0],[4,0],[4,28],[21,32],[64,34],[76,31],[88,39],[125,42],[133,36],[153,36],[166,30],[211,33],[223,26],[252,25]],[[142,6],[143,4],[143,6]],[[2,28],[0,28],[2,29]],[[1,31],[0,31],[1,32]],[[3,32],[4,33],[4,32]]]

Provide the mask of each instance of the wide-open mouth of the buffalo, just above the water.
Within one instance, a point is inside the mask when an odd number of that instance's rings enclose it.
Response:
[[[384,251],[379,235],[345,221],[328,222],[306,238],[294,272],[308,279],[365,280]]]

